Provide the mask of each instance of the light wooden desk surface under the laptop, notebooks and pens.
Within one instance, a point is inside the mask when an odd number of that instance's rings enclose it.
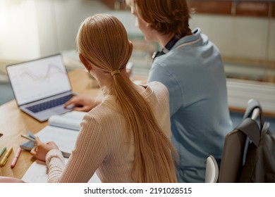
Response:
[[[69,72],[69,77],[73,91],[94,96],[101,94],[99,89],[91,88],[89,76],[84,70],[73,70]],[[19,145],[26,141],[26,139],[21,137],[21,134],[27,134],[25,129],[29,129],[35,134],[45,126],[47,126],[47,122],[39,122],[21,112],[15,100],[0,106],[0,133],[4,134],[0,138],[0,149],[4,146],[7,146],[7,148],[13,147],[13,152],[8,158],[8,162],[4,167],[0,168],[0,176],[16,177],[19,179],[23,177],[35,159],[32,158],[32,155],[28,151],[22,151],[16,167],[11,169],[11,162]],[[4,155],[1,156],[1,158],[3,157]]]

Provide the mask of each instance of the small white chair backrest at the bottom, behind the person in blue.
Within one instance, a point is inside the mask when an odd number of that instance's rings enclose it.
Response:
[[[216,159],[209,155],[206,163],[205,181],[206,183],[216,183],[219,177],[219,167]]]

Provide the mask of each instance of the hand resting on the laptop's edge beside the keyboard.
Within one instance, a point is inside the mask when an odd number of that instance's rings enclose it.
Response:
[[[94,98],[90,98],[89,96],[76,95],[64,104],[64,108],[66,108],[69,105],[73,105],[73,110],[88,112],[92,110],[92,108],[97,106],[99,103],[101,103],[101,101],[102,98],[96,100]]]

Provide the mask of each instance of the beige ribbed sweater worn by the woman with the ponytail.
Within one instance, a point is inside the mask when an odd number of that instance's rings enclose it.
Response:
[[[170,139],[166,87],[151,82],[142,95],[149,101],[157,121]],[[102,182],[132,182],[130,174],[135,150],[133,144],[127,143],[127,132],[116,101],[111,96],[105,98],[83,118],[75,148],[66,165],[59,150],[47,153],[48,182],[88,182],[96,171]]]

